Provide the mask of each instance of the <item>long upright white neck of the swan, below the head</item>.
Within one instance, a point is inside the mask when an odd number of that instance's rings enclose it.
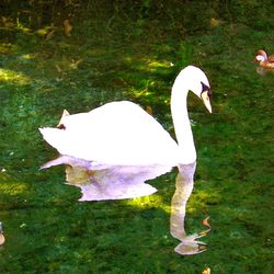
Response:
[[[171,93],[171,114],[179,145],[180,163],[184,164],[196,160],[196,149],[187,113],[187,89],[176,81],[174,82]]]

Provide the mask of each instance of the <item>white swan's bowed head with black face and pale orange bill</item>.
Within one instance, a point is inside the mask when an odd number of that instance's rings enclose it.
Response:
[[[212,113],[210,85],[204,71],[197,67],[189,66],[184,68],[181,73],[183,75],[183,84],[187,85],[189,90],[201,98],[208,112]]]

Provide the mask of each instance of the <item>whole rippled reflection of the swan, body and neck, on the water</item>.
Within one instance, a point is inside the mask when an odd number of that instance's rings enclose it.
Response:
[[[135,198],[153,194],[157,189],[145,181],[153,178],[161,169],[160,165],[116,165],[112,168],[102,165],[98,167],[99,169],[95,171],[88,171],[87,164],[90,163],[73,157],[60,156],[54,161],[56,164],[69,164],[66,168],[66,180],[68,184],[81,189],[82,196],[79,199],[81,202]],[[53,164],[53,161],[47,164]],[[178,168],[175,192],[171,199],[170,233],[180,240],[179,246],[174,249],[176,253],[193,255],[206,250],[206,244],[197,239],[207,235],[210,227],[205,221],[206,230],[186,235],[184,228],[186,203],[193,191],[196,162],[180,164]]]

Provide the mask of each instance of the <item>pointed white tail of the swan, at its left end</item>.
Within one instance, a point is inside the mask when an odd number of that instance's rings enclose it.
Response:
[[[54,148],[56,148],[60,153],[64,147],[64,135],[65,130],[53,127],[39,128],[43,138]]]

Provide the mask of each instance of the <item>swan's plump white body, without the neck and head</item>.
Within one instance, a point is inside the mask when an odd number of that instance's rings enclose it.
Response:
[[[140,106],[128,101],[64,116],[61,125],[66,129],[41,129],[47,142],[61,155],[118,165],[179,161],[178,145],[169,133]]]

